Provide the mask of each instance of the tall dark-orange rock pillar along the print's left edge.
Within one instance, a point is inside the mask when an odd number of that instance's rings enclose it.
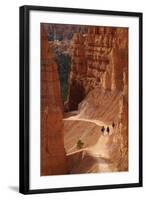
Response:
[[[57,65],[41,25],[41,175],[67,173]]]

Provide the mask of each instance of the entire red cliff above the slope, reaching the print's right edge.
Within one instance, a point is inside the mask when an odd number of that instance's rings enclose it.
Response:
[[[97,86],[106,90],[123,90],[128,63],[127,38],[127,29],[123,28],[90,27],[84,34],[74,34],[69,110],[76,110],[84,97]]]

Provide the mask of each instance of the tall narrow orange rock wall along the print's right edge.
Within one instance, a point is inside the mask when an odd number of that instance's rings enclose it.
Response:
[[[112,90],[122,91],[119,101],[117,127],[113,141],[117,149],[112,153],[117,160],[119,171],[128,170],[128,30],[117,29],[116,43],[113,48],[113,80]]]

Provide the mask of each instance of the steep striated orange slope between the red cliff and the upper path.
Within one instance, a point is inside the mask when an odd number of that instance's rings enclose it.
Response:
[[[122,93],[95,88],[79,104],[79,116],[87,119],[98,119],[105,123],[117,122],[119,102]]]

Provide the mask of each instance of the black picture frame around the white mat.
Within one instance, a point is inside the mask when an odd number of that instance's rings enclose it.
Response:
[[[139,182],[129,184],[114,185],[97,185],[97,186],[81,186],[68,188],[51,188],[51,189],[34,189],[29,187],[29,20],[30,11],[46,11],[46,12],[66,12],[66,13],[84,13],[84,14],[102,14],[112,16],[130,16],[139,19]],[[79,8],[63,8],[63,7],[44,7],[44,6],[22,6],[20,7],[20,146],[19,146],[19,191],[22,194],[34,193],[52,193],[52,192],[69,192],[83,190],[99,190],[114,188],[130,188],[142,186],[142,13],[139,12],[123,12],[123,11],[107,11],[107,10],[90,10]]]

